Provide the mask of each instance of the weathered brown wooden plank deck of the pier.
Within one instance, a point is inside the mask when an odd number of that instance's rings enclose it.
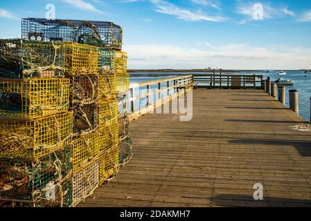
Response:
[[[78,206],[311,206],[311,136],[296,124],[261,90],[195,90],[190,122],[132,122],[132,161]]]

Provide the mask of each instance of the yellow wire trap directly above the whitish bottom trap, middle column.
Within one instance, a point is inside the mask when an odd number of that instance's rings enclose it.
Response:
[[[90,133],[73,142],[73,173],[85,168],[89,162],[94,160],[100,153],[100,145],[102,145],[102,136],[97,132]]]

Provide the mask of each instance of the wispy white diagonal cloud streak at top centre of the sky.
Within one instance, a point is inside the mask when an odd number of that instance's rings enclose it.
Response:
[[[226,18],[220,16],[208,16],[199,12],[190,12],[190,10],[182,9],[173,3],[163,0],[150,0],[157,7],[156,11],[166,14],[175,15],[177,19],[186,21],[226,21]]]

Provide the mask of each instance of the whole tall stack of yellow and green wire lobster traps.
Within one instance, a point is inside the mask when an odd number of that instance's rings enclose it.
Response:
[[[130,160],[121,46],[100,21],[22,19],[0,40],[0,206],[75,206]]]

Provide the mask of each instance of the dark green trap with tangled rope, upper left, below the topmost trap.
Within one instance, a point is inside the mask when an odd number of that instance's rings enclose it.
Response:
[[[0,77],[64,76],[64,49],[57,42],[0,39]]]

